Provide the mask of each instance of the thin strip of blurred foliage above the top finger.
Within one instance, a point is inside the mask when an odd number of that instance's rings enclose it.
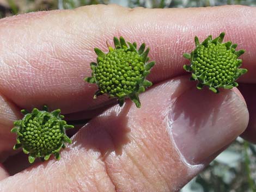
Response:
[[[0,0],[0,16],[10,16],[38,10],[74,9],[90,4],[117,3],[128,7],[186,8],[225,4],[255,6],[256,0]]]

